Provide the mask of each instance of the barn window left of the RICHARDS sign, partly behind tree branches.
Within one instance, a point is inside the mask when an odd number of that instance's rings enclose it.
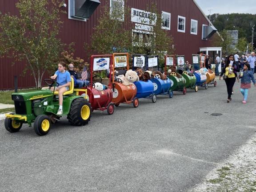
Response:
[[[110,0],[109,6],[112,19],[124,21],[124,0]]]

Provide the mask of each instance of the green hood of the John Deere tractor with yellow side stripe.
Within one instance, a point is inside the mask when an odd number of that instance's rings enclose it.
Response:
[[[22,93],[12,93],[12,100],[16,101],[27,101],[27,100],[36,100],[44,97],[52,96],[50,90],[38,90],[32,92],[22,92]]]

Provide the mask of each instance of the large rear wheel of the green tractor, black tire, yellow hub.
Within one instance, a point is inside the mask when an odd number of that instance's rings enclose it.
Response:
[[[84,98],[73,100],[67,117],[70,124],[76,126],[88,124],[91,116],[91,104],[89,104]]]

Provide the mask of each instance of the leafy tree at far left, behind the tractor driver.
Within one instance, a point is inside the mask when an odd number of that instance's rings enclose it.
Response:
[[[63,44],[60,31],[59,0],[19,0],[19,15],[0,15],[0,55],[26,60],[24,73],[30,69],[41,87],[45,72],[56,68]]]

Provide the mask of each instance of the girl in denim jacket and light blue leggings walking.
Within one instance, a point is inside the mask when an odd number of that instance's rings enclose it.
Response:
[[[248,89],[251,88],[251,80],[256,87],[256,82],[249,64],[244,64],[244,69],[240,72],[239,79],[241,79],[240,92],[244,96],[244,100],[242,101],[242,103],[246,104]]]

